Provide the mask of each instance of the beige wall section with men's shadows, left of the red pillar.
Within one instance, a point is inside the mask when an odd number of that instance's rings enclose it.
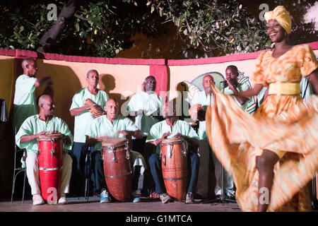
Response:
[[[73,95],[87,86],[86,73],[95,69],[100,73],[98,87],[122,105],[129,96],[141,90],[143,79],[148,76],[148,65],[96,64],[37,59],[37,77],[51,76],[54,98],[57,103],[55,114],[69,124],[73,133],[73,117],[69,114]],[[40,95],[44,88],[36,90]],[[123,97],[122,97],[123,95]],[[122,100],[124,99],[124,100]]]

